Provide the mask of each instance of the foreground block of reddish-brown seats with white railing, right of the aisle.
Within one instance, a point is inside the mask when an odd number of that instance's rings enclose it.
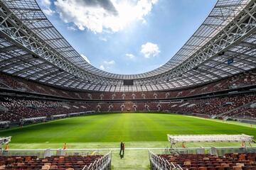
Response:
[[[256,169],[255,153],[228,153],[223,157],[211,154],[156,155],[151,153],[150,157],[151,169],[156,167],[171,169],[171,166],[193,170]],[[166,164],[166,162],[169,162],[169,164]]]

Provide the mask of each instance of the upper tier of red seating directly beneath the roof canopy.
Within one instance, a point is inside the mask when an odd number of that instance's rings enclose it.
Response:
[[[77,99],[94,99],[94,100],[111,100],[111,99],[158,99],[158,98],[178,98],[206,94],[214,91],[223,91],[234,89],[242,86],[256,85],[256,69],[237,74],[233,77],[215,81],[199,87],[177,91],[144,91],[144,92],[77,92],[56,89],[33,81],[27,81],[18,77],[11,77],[7,74],[0,73],[0,88],[16,89],[30,93],[45,94],[50,96],[60,96],[63,98]]]

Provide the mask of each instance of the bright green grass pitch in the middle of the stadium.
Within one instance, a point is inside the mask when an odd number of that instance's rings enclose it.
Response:
[[[166,134],[247,134],[255,128],[159,113],[114,113],[55,120],[23,128],[1,130],[15,143],[164,142]]]

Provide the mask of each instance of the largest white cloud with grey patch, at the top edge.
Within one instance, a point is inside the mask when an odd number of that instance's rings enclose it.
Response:
[[[46,0],[45,0],[46,1]],[[80,30],[102,33],[117,32],[134,21],[145,23],[158,0],[57,0],[55,6],[65,23],[74,23]]]

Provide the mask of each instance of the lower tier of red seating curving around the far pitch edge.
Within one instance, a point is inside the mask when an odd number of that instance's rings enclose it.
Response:
[[[93,101],[93,102],[92,102]],[[4,98],[0,101],[1,121],[18,122],[23,118],[79,113],[86,111],[105,112],[133,112],[153,111],[170,112],[218,118],[247,118],[256,119],[256,94],[235,94],[231,96],[212,96],[191,98],[174,101],[43,101],[31,99]],[[96,101],[96,102],[95,102]]]

